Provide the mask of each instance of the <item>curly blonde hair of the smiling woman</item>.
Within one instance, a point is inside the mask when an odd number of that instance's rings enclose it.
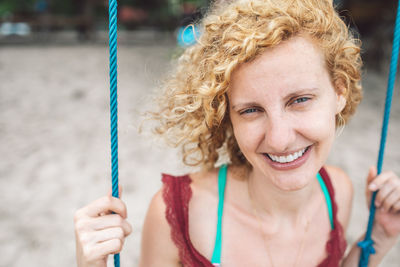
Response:
[[[305,34],[322,49],[335,88],[347,103],[336,118],[344,123],[361,101],[360,41],[329,0],[241,0],[214,3],[201,23],[196,45],[185,50],[164,83],[155,132],[181,146],[183,162],[213,168],[225,154],[234,165],[241,154],[228,114],[232,73],[265,49]]]

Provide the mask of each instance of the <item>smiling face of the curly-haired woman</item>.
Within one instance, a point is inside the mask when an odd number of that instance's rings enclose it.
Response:
[[[282,190],[307,185],[328,157],[345,104],[322,51],[305,37],[266,50],[232,75],[230,119],[256,175]]]

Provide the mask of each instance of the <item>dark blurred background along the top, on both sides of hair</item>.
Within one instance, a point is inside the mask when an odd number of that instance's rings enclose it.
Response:
[[[224,0],[220,0],[224,1]],[[161,33],[177,33],[206,12],[210,0],[121,0],[122,43]],[[365,40],[364,60],[376,68],[390,51],[395,0],[334,0],[341,16]],[[104,43],[108,38],[107,0],[2,0],[0,45]],[[132,33],[135,32],[135,38]],[[179,40],[178,40],[179,41]],[[385,57],[386,58],[386,57]],[[385,62],[386,63],[386,62]]]

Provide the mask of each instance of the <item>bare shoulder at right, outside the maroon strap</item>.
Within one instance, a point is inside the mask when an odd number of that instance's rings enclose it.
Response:
[[[338,219],[346,230],[353,202],[353,183],[347,173],[339,167],[327,165],[325,169],[335,189],[335,200],[338,205]]]

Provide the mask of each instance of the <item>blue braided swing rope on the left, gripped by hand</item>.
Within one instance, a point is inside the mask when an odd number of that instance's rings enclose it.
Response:
[[[109,0],[108,6],[108,34],[110,48],[111,181],[112,196],[118,197],[117,1]],[[119,267],[119,261],[119,254],[115,254],[115,267]]]

